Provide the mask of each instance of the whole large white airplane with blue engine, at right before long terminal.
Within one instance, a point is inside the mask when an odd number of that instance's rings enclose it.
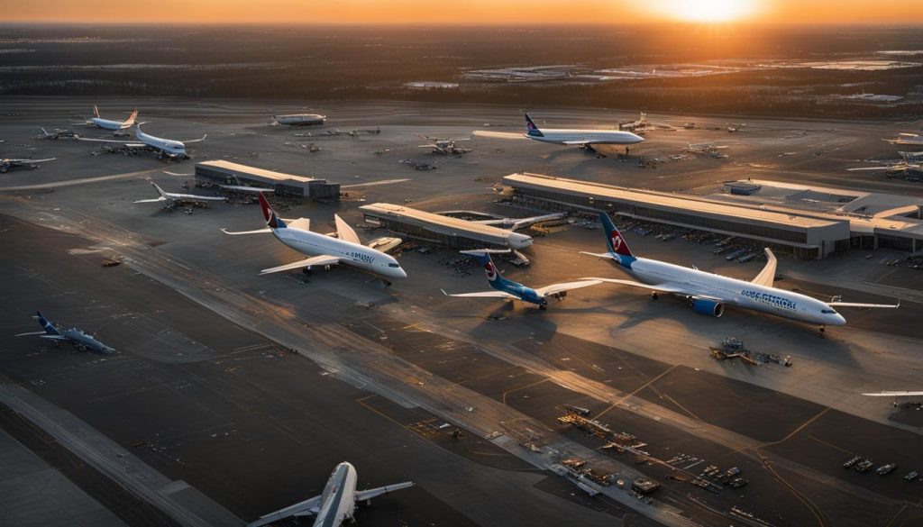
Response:
[[[640,281],[609,278],[587,278],[641,287],[651,291],[653,299],[658,293],[673,293],[686,297],[689,306],[696,313],[721,317],[725,305],[737,305],[779,317],[792,318],[821,325],[821,332],[827,325],[843,326],[845,318],[834,307],[882,307],[896,308],[897,305],[856,304],[849,302],[822,302],[804,294],[793,293],[773,286],[776,259],[768,247],[766,266],[752,281],[737,280],[674,264],[635,257],[622,235],[605,212],[600,212],[600,221],[605,227],[605,244],[608,251],[602,254],[581,251],[581,254],[612,260],[617,267],[626,270]]]

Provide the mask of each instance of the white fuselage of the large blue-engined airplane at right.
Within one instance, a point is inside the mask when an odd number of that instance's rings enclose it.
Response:
[[[692,300],[718,299],[723,304],[825,326],[842,326],[846,322],[833,307],[804,294],[647,258],[621,258],[619,268],[639,281],[677,286],[691,293]]]

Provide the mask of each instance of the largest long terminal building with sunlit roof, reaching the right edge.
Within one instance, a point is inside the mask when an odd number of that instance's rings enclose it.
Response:
[[[607,210],[624,218],[749,239],[797,258],[824,258],[850,248],[887,247],[910,252],[923,249],[923,202],[908,203],[897,196],[842,190],[833,194],[833,189],[775,182],[756,182],[747,192],[727,188],[719,196],[700,197],[541,174],[509,174],[503,181],[512,189],[513,201],[524,207]],[[805,196],[797,198],[801,195]],[[786,205],[794,202],[793,197],[804,203],[829,199],[838,205],[838,210],[805,210]]]

